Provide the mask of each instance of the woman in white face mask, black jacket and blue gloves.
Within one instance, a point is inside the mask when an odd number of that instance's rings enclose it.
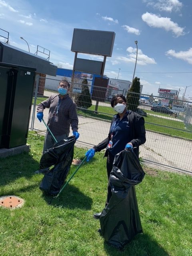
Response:
[[[139,146],[146,142],[146,132],[144,118],[139,114],[127,110],[126,98],[122,94],[116,94],[111,100],[111,106],[118,113],[111,122],[108,137],[86,152],[87,161],[94,156],[95,152],[100,152],[106,148],[107,156],[107,174],[108,179],[112,171],[113,161],[116,154],[128,148],[133,150],[139,158]],[[108,184],[108,195],[106,205],[111,197],[111,188]],[[99,219],[101,212],[95,213],[94,218]]]

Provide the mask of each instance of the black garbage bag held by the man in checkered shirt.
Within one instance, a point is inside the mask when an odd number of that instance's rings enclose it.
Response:
[[[72,164],[75,142],[75,136],[70,136],[44,152],[40,160],[40,168],[44,169],[52,165],[54,167],[44,175],[39,187],[42,191],[54,196],[59,193]]]

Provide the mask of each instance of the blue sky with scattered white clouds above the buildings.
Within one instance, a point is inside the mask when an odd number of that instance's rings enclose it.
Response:
[[[158,88],[179,90],[192,97],[191,0],[0,0],[0,28],[10,33],[10,44],[35,53],[37,45],[50,50],[50,61],[72,69],[74,28],[116,33],[112,57],[104,74],[132,81],[143,93],[158,95]],[[1,35],[2,32],[0,32]],[[82,56],[102,60],[101,56]],[[119,73],[119,76],[118,76]],[[186,86],[188,86],[186,88]],[[192,99],[191,99],[192,100]]]

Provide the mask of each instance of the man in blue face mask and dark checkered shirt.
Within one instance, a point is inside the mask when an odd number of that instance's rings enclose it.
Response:
[[[57,141],[69,136],[70,125],[76,140],[79,138],[78,133],[78,116],[76,112],[76,104],[70,98],[68,90],[70,83],[67,80],[61,80],[58,86],[58,95],[50,96],[47,100],[38,104],[37,118],[41,122],[43,118],[43,110],[49,108],[48,127]],[[52,148],[55,141],[49,131],[46,132],[43,152]],[[38,170],[35,173],[45,173],[47,169]]]

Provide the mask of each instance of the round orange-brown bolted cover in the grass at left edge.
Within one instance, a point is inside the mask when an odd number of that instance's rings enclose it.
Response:
[[[0,197],[0,206],[5,208],[18,208],[24,204],[24,200],[17,196],[2,196]]]

